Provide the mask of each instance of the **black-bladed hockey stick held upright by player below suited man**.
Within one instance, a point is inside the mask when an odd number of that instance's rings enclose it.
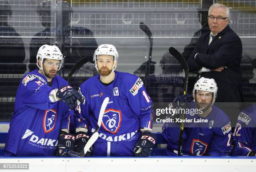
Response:
[[[177,51],[175,48],[170,47],[169,48],[169,53],[172,54],[172,56],[174,56],[174,58],[176,58],[179,63],[181,64],[182,68],[184,69],[185,72],[185,78],[184,78],[184,95],[187,93],[187,83],[188,83],[188,73],[189,73],[189,68],[187,65],[187,61],[185,60],[185,58],[179,53],[179,51]],[[178,156],[181,155],[181,148],[182,148],[182,134],[183,134],[183,130],[184,130],[184,114],[182,114],[181,116],[182,118],[182,123],[179,127],[179,146],[178,146]]]

